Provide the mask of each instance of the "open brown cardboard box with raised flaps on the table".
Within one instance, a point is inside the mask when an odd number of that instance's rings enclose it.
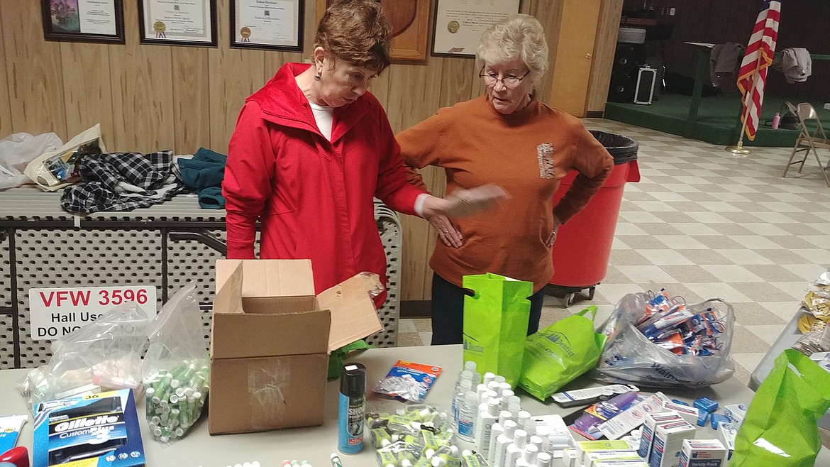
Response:
[[[308,259],[217,260],[210,434],[322,425],[329,353],[383,329],[379,287],[364,273],[315,297]]]

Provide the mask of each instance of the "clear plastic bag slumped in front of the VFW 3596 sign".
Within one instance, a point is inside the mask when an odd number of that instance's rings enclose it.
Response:
[[[141,396],[141,351],[149,323],[144,310],[127,303],[57,338],[49,363],[29,371],[20,384],[30,410],[40,402],[102,390],[132,389]]]

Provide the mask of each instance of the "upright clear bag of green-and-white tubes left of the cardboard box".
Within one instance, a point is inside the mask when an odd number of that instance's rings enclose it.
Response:
[[[149,327],[145,408],[155,440],[182,438],[202,415],[210,373],[196,286],[173,295]]]

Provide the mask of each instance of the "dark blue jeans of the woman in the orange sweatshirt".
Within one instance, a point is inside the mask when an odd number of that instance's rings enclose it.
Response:
[[[530,322],[527,334],[539,331],[544,288],[528,297]],[[432,274],[432,345],[461,344],[464,331],[464,289]]]

